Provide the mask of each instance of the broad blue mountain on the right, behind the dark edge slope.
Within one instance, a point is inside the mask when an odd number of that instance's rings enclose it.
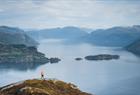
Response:
[[[101,46],[124,47],[140,38],[140,25],[98,29],[83,37],[85,42]]]

